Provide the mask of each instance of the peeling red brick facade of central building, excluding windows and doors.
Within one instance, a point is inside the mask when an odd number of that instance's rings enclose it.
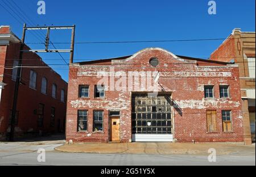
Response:
[[[157,57],[159,65],[150,65],[150,58]],[[112,67],[111,67],[112,66]],[[173,134],[177,142],[243,142],[242,102],[237,65],[224,62],[205,61],[196,58],[175,56],[160,48],[147,48],[133,56],[81,62],[70,65],[68,104],[67,104],[67,141],[74,142],[108,142],[109,111],[120,111],[121,142],[131,142],[131,95],[135,92],[151,92],[150,88],[133,89],[127,87],[121,91],[108,90],[105,98],[94,98],[94,86],[105,75],[114,80],[119,77],[111,75],[111,69],[123,71],[159,71],[158,91],[170,92],[172,102]],[[126,78],[126,77],[125,77]],[[152,77],[154,80],[154,77]],[[125,79],[127,82],[127,79]],[[133,86],[141,85],[141,80],[134,81]],[[110,82],[111,83],[111,82]],[[119,84],[119,82],[118,82]],[[79,98],[79,85],[89,85],[89,98]],[[214,86],[214,98],[205,99],[204,86]],[[220,85],[228,85],[230,98],[220,98]],[[88,128],[85,132],[77,130],[77,111],[88,111]],[[102,132],[93,132],[93,111],[104,111]],[[207,110],[216,110],[217,130],[208,133]],[[232,111],[232,131],[224,133],[221,112]]]

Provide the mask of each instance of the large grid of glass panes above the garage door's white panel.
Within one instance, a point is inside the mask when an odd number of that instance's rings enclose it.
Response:
[[[133,134],[171,134],[170,96],[133,96],[132,125]]]

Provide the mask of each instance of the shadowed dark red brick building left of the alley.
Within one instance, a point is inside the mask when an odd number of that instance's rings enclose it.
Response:
[[[0,27],[0,139],[10,132],[20,40]],[[29,49],[27,46],[24,49]],[[68,84],[35,53],[23,53],[15,137],[64,132]],[[43,68],[32,68],[40,66]]]

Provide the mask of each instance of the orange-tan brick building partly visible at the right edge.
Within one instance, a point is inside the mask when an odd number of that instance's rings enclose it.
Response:
[[[215,61],[235,61],[239,66],[245,142],[255,141],[255,32],[232,34],[210,56]]]

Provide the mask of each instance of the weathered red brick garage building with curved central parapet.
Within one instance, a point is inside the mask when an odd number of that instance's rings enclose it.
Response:
[[[67,141],[243,142],[239,77],[160,48],[71,64]]]

